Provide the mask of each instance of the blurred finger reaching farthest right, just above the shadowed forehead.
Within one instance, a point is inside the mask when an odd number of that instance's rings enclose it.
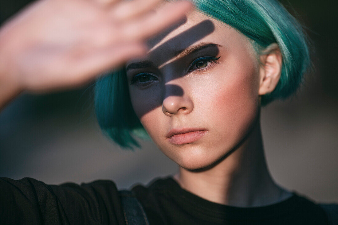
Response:
[[[189,1],[166,3],[142,20],[125,24],[121,28],[121,34],[126,40],[144,40],[181,19],[191,8],[192,3]]]

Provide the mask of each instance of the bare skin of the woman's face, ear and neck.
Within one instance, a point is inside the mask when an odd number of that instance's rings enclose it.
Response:
[[[216,47],[172,57],[208,43]],[[130,98],[154,143],[179,165],[174,178],[180,186],[209,201],[241,207],[290,197],[267,170],[260,130],[260,96],[273,91],[281,74],[278,46],[269,46],[259,63],[243,34],[198,11],[148,44],[146,57],[126,65],[144,60],[153,64],[127,70]],[[201,70],[190,67],[200,57],[220,58],[199,61]],[[206,133],[189,144],[168,141],[171,129],[184,127]]]

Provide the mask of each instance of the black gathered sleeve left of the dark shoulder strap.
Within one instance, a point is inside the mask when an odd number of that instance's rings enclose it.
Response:
[[[32,178],[0,178],[0,224],[124,225],[114,182],[47,185]]]

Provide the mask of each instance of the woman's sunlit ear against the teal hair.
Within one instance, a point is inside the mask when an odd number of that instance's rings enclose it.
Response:
[[[282,73],[282,54],[276,43],[269,45],[260,56],[261,66],[259,69],[259,95],[271,93]]]

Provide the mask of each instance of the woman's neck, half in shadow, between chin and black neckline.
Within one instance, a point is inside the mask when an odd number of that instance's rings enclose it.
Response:
[[[259,120],[246,140],[217,165],[198,171],[180,168],[174,178],[201,198],[231,206],[270,205],[291,196],[268,172]]]

